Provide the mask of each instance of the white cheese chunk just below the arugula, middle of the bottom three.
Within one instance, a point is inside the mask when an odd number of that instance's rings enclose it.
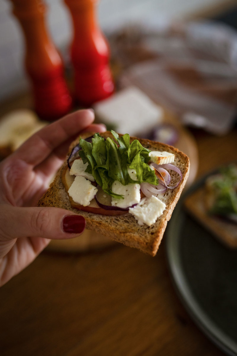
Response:
[[[112,197],[113,206],[125,209],[133,204],[138,204],[141,199],[140,184],[138,183],[123,185],[118,180],[115,180],[111,189],[115,194],[124,195],[124,199],[115,199]]]

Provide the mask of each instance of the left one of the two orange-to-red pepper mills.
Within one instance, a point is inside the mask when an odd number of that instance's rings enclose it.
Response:
[[[71,109],[72,99],[62,60],[45,28],[46,6],[42,0],[11,2],[25,36],[25,67],[31,78],[34,108],[42,119],[58,119]]]

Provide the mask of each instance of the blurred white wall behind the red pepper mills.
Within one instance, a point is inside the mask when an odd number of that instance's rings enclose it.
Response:
[[[48,4],[49,31],[58,48],[66,55],[70,42],[70,16],[62,0],[45,0]],[[152,17],[182,18],[223,0],[101,0],[98,19],[102,28]],[[24,44],[20,26],[11,14],[9,0],[0,0],[0,100],[27,88],[23,69]]]

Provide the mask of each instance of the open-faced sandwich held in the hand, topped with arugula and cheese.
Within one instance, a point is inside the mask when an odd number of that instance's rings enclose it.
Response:
[[[86,133],[38,205],[74,211],[87,229],[155,256],[188,173],[188,157],[172,146]]]

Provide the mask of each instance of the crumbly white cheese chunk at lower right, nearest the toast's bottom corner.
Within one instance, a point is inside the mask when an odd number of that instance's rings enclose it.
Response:
[[[160,199],[152,195],[151,198],[143,198],[140,204],[134,208],[129,208],[129,213],[138,220],[139,225],[146,224],[151,226],[154,224],[159,216],[163,214],[166,204]]]

